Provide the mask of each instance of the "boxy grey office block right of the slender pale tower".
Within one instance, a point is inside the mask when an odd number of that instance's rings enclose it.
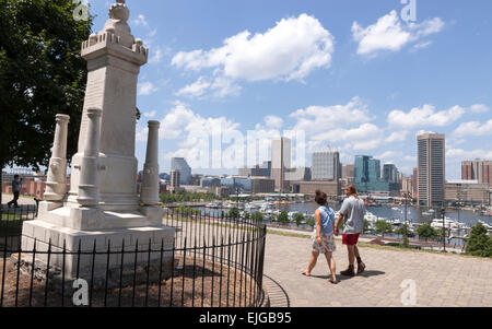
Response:
[[[313,180],[338,180],[341,178],[339,152],[315,152],[311,168]]]

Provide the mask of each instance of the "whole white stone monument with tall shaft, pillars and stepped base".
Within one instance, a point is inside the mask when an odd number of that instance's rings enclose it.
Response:
[[[89,74],[79,151],[70,171],[67,193],[68,116],[57,116],[52,156],[48,168],[46,201],[39,203],[36,221],[26,222],[22,248],[68,252],[152,248],[172,248],[175,230],[164,226],[159,204],[159,122],[149,122],[147,162],[144,164],[141,202],[137,195],[138,163],[134,157],[137,83],[140,67],[149,51],[134,39],[127,24],[130,12],[125,0],[109,10],[103,31],[82,44],[82,57]],[[160,257],[159,252],[153,257]],[[119,266],[118,257],[112,267]],[[147,260],[147,255],[142,255]],[[82,257],[81,257],[82,259]],[[132,257],[127,257],[129,262]],[[140,258],[139,258],[140,259]],[[75,257],[68,257],[67,273],[74,275]],[[81,260],[81,271],[90,261]],[[61,257],[51,256],[51,265],[60,266]]]

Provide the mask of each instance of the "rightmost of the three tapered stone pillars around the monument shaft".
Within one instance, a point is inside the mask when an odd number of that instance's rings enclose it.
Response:
[[[156,205],[159,199],[159,128],[161,122],[149,121],[149,138],[147,140],[147,156],[143,166],[143,179],[140,199],[145,205]]]

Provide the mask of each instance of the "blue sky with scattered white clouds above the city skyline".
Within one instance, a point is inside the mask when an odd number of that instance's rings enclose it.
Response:
[[[162,121],[161,172],[176,155],[194,173],[235,173],[242,158],[266,160],[283,130],[304,133],[306,165],[330,145],[343,163],[368,154],[411,174],[422,131],[446,133],[448,179],[462,160],[492,158],[492,2],[417,0],[414,22],[400,2],[127,0],[151,51],[140,167],[151,119]],[[112,1],[90,3],[99,31]],[[255,158],[238,152],[247,131],[259,139]],[[222,136],[222,156],[236,161],[195,161],[212,148],[203,136]]]

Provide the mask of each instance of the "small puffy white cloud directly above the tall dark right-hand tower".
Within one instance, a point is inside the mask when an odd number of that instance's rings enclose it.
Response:
[[[393,110],[388,115],[388,124],[393,127],[406,129],[421,127],[445,127],[461,118],[465,109],[460,106],[453,106],[447,110],[436,111],[435,106],[425,104],[422,107],[414,107],[409,113]]]

